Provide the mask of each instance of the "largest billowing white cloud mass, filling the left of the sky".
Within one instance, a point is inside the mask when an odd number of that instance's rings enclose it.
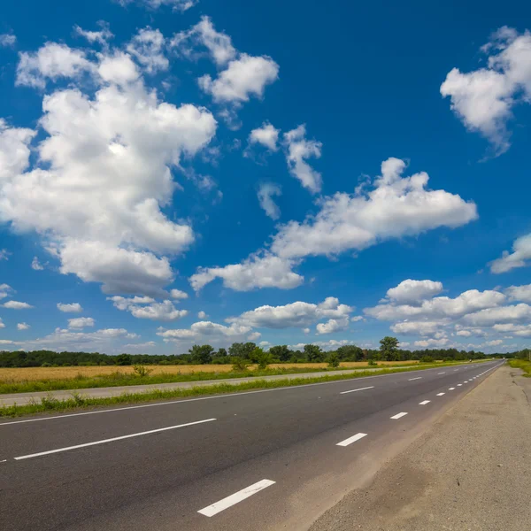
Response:
[[[50,50],[54,60],[45,61]],[[89,61],[49,42],[19,64],[42,83],[76,81],[81,70],[98,85],[94,96],[75,87],[44,96],[30,171],[27,144],[36,132],[0,124],[0,220],[42,235],[61,273],[102,282],[105,293],[164,296],[173,272],[163,255],[195,239],[186,221],[161,211],[173,200],[172,169],[211,141],[216,120],[204,108],[160,101],[121,50]]]

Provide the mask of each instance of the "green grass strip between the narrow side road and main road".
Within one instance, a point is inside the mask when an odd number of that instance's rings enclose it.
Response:
[[[44,413],[44,412],[65,412],[80,408],[91,408],[96,406],[111,406],[119,404],[137,404],[154,400],[168,400],[171,398],[186,398],[188,396],[217,395],[223,393],[237,393],[252,389],[275,389],[284,387],[294,387],[309,383],[321,383],[327,381],[354,380],[364,376],[374,376],[375,374],[390,373],[410,373],[431,367],[457,366],[462,363],[437,363],[424,366],[414,366],[409,368],[381,369],[377,373],[372,371],[360,371],[359,373],[335,374],[330,376],[319,376],[315,378],[294,378],[292,380],[253,380],[231,385],[229,383],[219,383],[212,386],[193,387],[189,389],[167,389],[155,390],[148,393],[124,393],[120,396],[110,396],[105,398],[91,398],[81,396],[73,392],[72,398],[58,400],[53,396],[46,396],[41,401],[31,404],[8,405],[0,407],[0,418],[18,417],[21,415]]]

